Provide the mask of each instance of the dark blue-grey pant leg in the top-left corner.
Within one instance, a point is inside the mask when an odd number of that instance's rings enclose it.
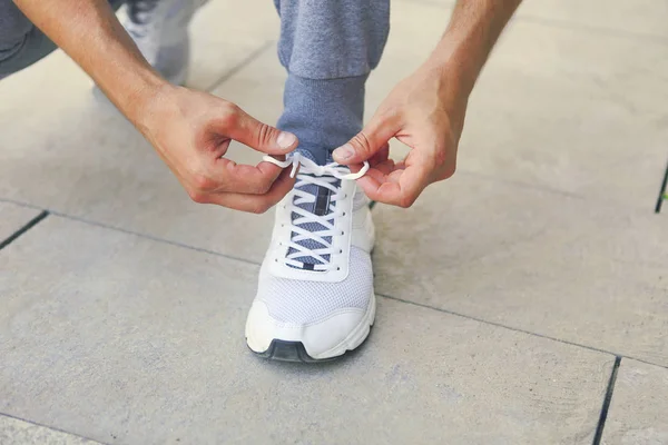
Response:
[[[109,3],[117,10],[124,0]],[[56,48],[12,0],[0,0],[0,79],[41,60]]]

